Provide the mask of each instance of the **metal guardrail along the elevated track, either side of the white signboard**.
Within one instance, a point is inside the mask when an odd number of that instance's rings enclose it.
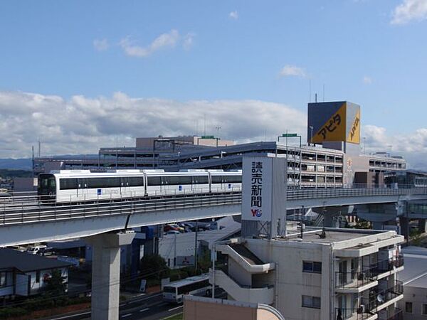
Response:
[[[427,188],[307,188],[287,191],[290,201],[401,195],[427,196]],[[38,196],[11,196],[0,198],[0,225],[238,203],[241,203],[240,190],[218,193],[162,193],[149,197],[111,198],[78,203],[42,203]]]

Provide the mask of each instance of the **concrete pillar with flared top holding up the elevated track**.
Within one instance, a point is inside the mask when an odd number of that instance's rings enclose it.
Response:
[[[92,320],[119,319],[120,245],[135,233],[102,233],[88,238],[92,245]]]

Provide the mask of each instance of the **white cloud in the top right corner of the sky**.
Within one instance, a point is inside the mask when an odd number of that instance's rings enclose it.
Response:
[[[427,19],[427,0],[404,0],[396,6],[391,24],[405,24]]]

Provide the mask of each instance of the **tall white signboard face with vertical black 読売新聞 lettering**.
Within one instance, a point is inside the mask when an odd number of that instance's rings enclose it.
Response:
[[[272,159],[243,158],[242,219],[271,221]]]

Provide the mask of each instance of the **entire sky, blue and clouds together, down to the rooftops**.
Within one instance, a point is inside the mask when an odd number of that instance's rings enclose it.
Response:
[[[427,0],[4,0],[0,157],[304,135],[317,93],[361,105],[367,151],[427,169],[426,34]]]

